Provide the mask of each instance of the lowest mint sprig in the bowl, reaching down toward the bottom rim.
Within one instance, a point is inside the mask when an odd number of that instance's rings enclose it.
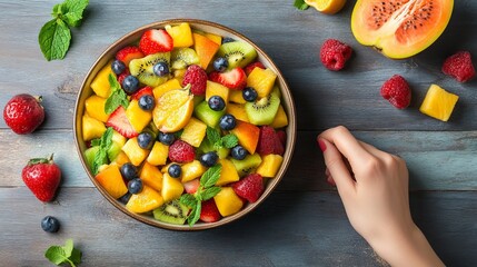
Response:
[[[195,194],[185,194],[180,197],[180,202],[188,206],[192,210],[187,217],[189,226],[193,226],[200,218],[200,210],[202,209],[202,201],[209,200],[220,191],[220,187],[216,182],[220,178],[222,171],[221,165],[215,165],[203,172],[200,177],[200,186]]]

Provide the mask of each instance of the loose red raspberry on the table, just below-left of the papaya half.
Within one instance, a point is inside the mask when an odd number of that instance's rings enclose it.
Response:
[[[345,68],[351,53],[352,49],[348,44],[336,39],[328,39],[322,43],[319,55],[327,69],[337,71]]]

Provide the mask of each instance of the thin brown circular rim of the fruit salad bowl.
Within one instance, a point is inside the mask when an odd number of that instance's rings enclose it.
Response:
[[[80,140],[80,139],[82,139],[82,137],[80,138],[80,136],[82,136],[82,134],[80,134],[80,130],[82,128],[79,126],[79,121],[78,121],[78,120],[81,120],[80,118],[78,118],[78,116],[79,116],[79,110],[81,109],[80,103],[83,105],[83,102],[81,102],[81,96],[82,96],[83,91],[86,90],[85,88],[88,83],[88,79],[90,79],[90,77],[95,72],[95,70],[97,68],[99,68],[98,65],[102,60],[105,60],[105,57],[107,57],[109,53],[111,53],[112,50],[118,49],[118,44],[120,44],[121,42],[132,38],[133,36],[138,34],[139,32],[142,32],[142,31],[148,30],[148,29],[163,28],[166,24],[179,24],[181,22],[188,22],[191,26],[191,28],[195,28],[195,26],[196,27],[202,26],[202,27],[217,28],[221,31],[231,33],[231,34],[238,37],[239,39],[250,43],[257,50],[257,53],[259,55],[259,57],[264,57],[264,60],[269,65],[268,67],[271,68],[274,70],[274,72],[277,73],[277,79],[279,80],[279,83],[280,83],[280,92],[286,96],[286,97],[282,97],[282,99],[287,99],[287,108],[286,109],[287,109],[287,116],[289,118],[288,119],[288,126],[287,126],[287,145],[286,145],[285,154],[284,154],[284,161],[282,161],[280,169],[278,170],[277,175],[274,178],[270,178],[270,181],[268,181],[269,185],[266,186],[260,198],[254,204],[248,204],[248,202],[245,204],[244,207],[240,209],[240,211],[238,211],[237,214],[233,214],[233,215],[227,216],[227,217],[222,217],[220,220],[218,220],[216,222],[199,222],[199,224],[193,225],[192,227],[190,227],[187,224],[185,224],[185,225],[167,224],[167,222],[162,222],[159,220],[155,220],[153,218],[150,218],[150,216],[145,216],[141,214],[131,212],[131,211],[127,210],[126,207],[119,202],[119,200],[112,198],[106,191],[106,189],[103,189],[99,185],[99,182],[96,181],[95,177],[91,175],[91,172],[88,168],[88,165],[86,164],[83,152],[81,151],[81,144],[80,144],[80,141],[85,142],[83,140]],[[211,33],[213,33],[213,32],[211,32]],[[128,43],[130,43],[130,42],[128,42]],[[264,61],[264,60],[261,60],[261,61]],[[294,155],[294,150],[295,150],[295,142],[296,142],[296,135],[297,135],[297,123],[296,123],[297,119],[296,119],[296,111],[295,111],[295,101],[294,101],[294,98],[291,96],[289,86],[284,78],[282,72],[277,68],[274,60],[261,48],[259,48],[254,41],[251,41],[249,38],[244,36],[242,33],[240,33],[233,29],[230,29],[226,26],[219,24],[217,22],[212,22],[212,21],[208,21],[208,20],[201,20],[201,19],[177,18],[177,19],[166,19],[166,20],[151,22],[151,23],[145,24],[142,27],[139,27],[139,28],[136,28],[135,30],[129,31],[128,33],[126,33],[125,36],[122,36],[121,38],[119,38],[118,40],[112,42],[110,46],[108,46],[101,52],[101,55],[97,58],[97,60],[95,60],[95,62],[89,68],[88,72],[86,73],[83,81],[81,82],[81,87],[80,87],[80,90],[78,91],[78,96],[76,99],[73,116],[74,116],[73,117],[73,137],[74,137],[74,145],[76,145],[77,152],[79,155],[81,165],[82,165],[83,169],[86,170],[86,174],[88,175],[89,179],[95,185],[95,187],[100,191],[102,197],[105,197],[117,209],[119,209],[120,211],[122,211],[123,214],[128,215],[129,217],[131,217],[136,220],[139,220],[139,221],[147,224],[147,225],[150,225],[150,226],[155,226],[155,227],[159,227],[159,228],[163,228],[163,229],[169,229],[169,230],[179,230],[179,231],[195,231],[195,230],[205,230],[205,229],[217,228],[219,226],[223,226],[223,225],[227,225],[231,221],[236,221],[238,219],[241,219],[245,215],[247,215],[247,214],[251,212],[254,209],[256,209],[261,202],[265,201],[265,199],[267,199],[271,195],[274,189],[278,186],[280,180],[286,175],[286,171],[287,171],[289,164],[292,159],[292,155]],[[82,113],[81,113],[81,116],[82,116]],[[288,159],[288,160],[285,160],[285,159]]]

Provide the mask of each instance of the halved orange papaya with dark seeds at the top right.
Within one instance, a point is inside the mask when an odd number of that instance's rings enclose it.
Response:
[[[454,0],[358,0],[351,31],[359,43],[388,58],[409,58],[439,38],[453,8]]]

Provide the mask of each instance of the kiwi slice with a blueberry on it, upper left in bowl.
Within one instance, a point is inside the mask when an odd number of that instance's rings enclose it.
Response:
[[[152,68],[158,62],[166,62],[169,66],[170,52],[152,53],[140,59],[133,59],[129,63],[129,71],[132,76],[136,76],[139,81],[146,86],[157,87],[167,80],[169,76],[156,76]]]

